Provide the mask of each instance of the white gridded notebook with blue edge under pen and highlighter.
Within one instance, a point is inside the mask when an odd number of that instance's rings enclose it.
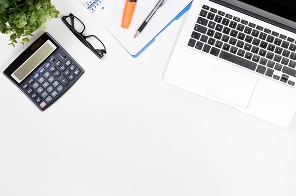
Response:
[[[167,0],[136,39],[138,28],[158,0],[137,0],[129,29],[121,27],[126,0],[80,0],[133,57],[138,57],[155,38],[189,8],[192,0]]]

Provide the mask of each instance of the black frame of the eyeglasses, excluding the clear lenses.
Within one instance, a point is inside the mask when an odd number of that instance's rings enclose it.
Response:
[[[71,17],[70,19],[71,19],[71,23],[72,24],[69,24],[69,22],[66,20],[69,17]],[[79,20],[81,22],[81,24],[83,25],[83,30],[81,32],[77,32],[75,30],[75,27],[74,27],[74,18],[77,19],[77,20]],[[72,33],[76,36],[76,38],[79,39],[86,47],[88,47],[100,59],[104,56],[104,54],[107,54],[106,47],[105,47],[104,43],[99,38],[97,38],[94,35],[90,35],[90,36],[84,36],[83,35],[83,32],[85,31],[85,25],[84,25],[84,23],[79,18],[77,18],[76,16],[74,16],[72,13],[70,13],[69,16],[63,16],[62,17],[62,21],[72,31]],[[104,46],[104,49],[96,49],[96,48],[94,48],[93,45],[86,40],[86,39],[91,38],[91,37],[94,37],[94,38],[98,39],[102,43],[102,45]]]

